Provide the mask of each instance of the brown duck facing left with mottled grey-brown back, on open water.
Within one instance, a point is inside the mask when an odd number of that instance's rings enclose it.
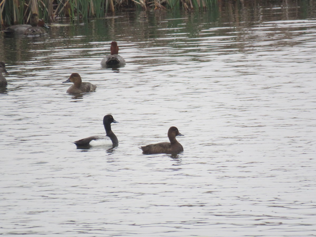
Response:
[[[68,88],[68,94],[81,94],[86,92],[94,92],[97,86],[89,83],[89,82],[82,82],[81,76],[78,73],[72,73],[68,80],[64,81],[63,83],[72,82],[74,83],[70,88]]]

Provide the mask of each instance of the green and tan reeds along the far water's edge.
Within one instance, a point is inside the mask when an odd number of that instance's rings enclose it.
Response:
[[[0,0],[0,25],[26,23],[32,13],[37,13],[46,22],[56,17],[100,18],[115,14],[124,8],[147,9],[200,9],[209,8],[217,0]]]

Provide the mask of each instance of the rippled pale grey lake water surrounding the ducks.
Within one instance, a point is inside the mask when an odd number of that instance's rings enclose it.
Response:
[[[262,2],[1,35],[0,234],[315,236],[316,4]],[[76,149],[106,114],[119,146]],[[142,155],[170,126],[184,152]]]

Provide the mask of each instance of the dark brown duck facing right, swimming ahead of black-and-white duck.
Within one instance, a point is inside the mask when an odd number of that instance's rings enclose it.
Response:
[[[177,141],[176,136],[182,135],[176,127],[170,127],[168,130],[168,138],[170,143],[156,143],[140,147],[143,154],[178,154],[183,151],[182,145]]]

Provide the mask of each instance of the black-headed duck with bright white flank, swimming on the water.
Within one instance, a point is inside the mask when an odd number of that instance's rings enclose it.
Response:
[[[118,138],[111,130],[111,123],[118,123],[113,119],[111,114],[103,117],[103,125],[105,128],[106,136],[92,136],[74,142],[77,147],[88,147],[88,146],[103,146],[113,145],[118,146]]]

